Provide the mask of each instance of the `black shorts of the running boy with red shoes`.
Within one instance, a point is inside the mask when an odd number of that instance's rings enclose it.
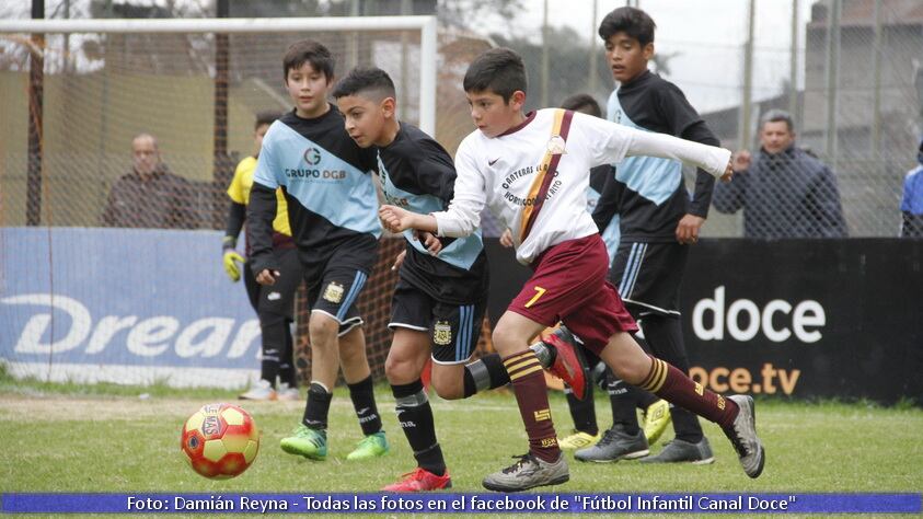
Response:
[[[429,332],[434,362],[462,364],[471,358],[477,347],[486,310],[486,295],[470,304],[449,304],[399,279],[394,297],[391,298],[391,322],[388,327]]]

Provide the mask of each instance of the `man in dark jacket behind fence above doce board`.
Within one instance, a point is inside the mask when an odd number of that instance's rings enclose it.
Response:
[[[760,119],[760,151],[734,157],[734,181],[715,187],[720,212],[743,209],[743,235],[845,238],[837,177],[827,165],[795,146],[792,116],[772,109]]]

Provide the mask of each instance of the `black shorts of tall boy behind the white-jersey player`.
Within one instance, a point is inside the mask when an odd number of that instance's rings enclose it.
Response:
[[[648,314],[679,316],[680,284],[689,245],[680,243],[619,243],[609,281],[619,289],[635,319]]]

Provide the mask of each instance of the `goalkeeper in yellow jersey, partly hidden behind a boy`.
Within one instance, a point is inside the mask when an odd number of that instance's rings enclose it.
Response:
[[[231,281],[241,278],[238,264],[245,262],[235,247],[238,235],[246,221],[246,205],[250,203],[250,189],[253,187],[253,173],[263,146],[263,137],[279,114],[261,113],[256,115],[253,135],[256,153],[243,159],[234,170],[228,197],[231,205],[228,210],[224,239],[222,240],[222,263]],[[298,378],[295,370],[293,339],[291,323],[295,291],[301,282],[301,264],[291,240],[288,224],[288,209],[281,189],[276,189],[277,210],[273,220],[273,254],[279,267],[279,282],[263,286],[250,268],[243,269],[244,287],[250,304],[259,318],[262,332],[262,357],[259,361],[259,381],[240,395],[241,400],[298,400]],[[246,241],[245,254],[250,256],[250,240]],[[276,390],[276,377],[279,388]]]

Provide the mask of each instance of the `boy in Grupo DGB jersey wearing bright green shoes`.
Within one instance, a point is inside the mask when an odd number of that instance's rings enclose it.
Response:
[[[365,435],[347,460],[360,460],[388,452],[356,309],[376,264],[381,227],[369,173],[374,154],[346,135],[343,116],[326,101],[333,66],[327,48],[316,42],[297,42],[286,53],[286,88],[296,108],[274,123],[263,140],[247,208],[250,263],[258,282],[275,282],[272,221],[275,189],[281,187],[308,282],[312,356],[302,422],[280,446],[292,454],[326,458],[331,390],[342,366]]]

